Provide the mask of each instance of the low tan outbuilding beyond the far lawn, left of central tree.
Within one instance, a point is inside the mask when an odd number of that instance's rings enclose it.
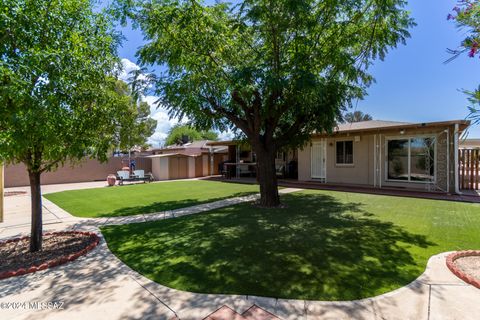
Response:
[[[226,147],[208,146],[208,140],[151,149],[147,156],[152,162],[155,180],[205,177],[218,174],[214,165],[227,157]]]

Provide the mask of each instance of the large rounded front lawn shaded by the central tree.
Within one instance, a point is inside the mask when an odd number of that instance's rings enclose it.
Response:
[[[480,205],[304,191],[286,209],[241,204],[102,228],[109,248],[176,289],[352,300],[406,285],[430,256],[480,249]]]

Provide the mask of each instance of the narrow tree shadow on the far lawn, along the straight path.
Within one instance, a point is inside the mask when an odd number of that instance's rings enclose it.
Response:
[[[158,201],[158,202],[153,202],[153,203],[149,203],[141,206],[122,207],[119,209],[115,209],[113,211],[99,213],[95,215],[95,217],[97,218],[125,217],[125,216],[133,216],[136,214],[157,213],[157,212],[170,211],[175,209],[197,206],[200,204],[215,202],[215,201],[224,200],[228,198],[244,197],[244,196],[252,195],[255,193],[257,192],[237,192],[224,197],[216,197],[216,198],[210,198],[205,200],[182,199],[182,200],[171,200],[171,201]]]

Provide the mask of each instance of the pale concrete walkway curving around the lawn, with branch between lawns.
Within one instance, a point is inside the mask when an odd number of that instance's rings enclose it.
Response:
[[[293,191],[285,189],[282,192]],[[254,196],[173,210],[156,214],[155,219],[174,218],[252,199]],[[154,217],[79,219],[59,211],[61,209],[51,203],[45,202],[44,205],[60,217],[57,223],[45,226],[48,231],[92,230],[100,234],[100,225],[143,222]],[[28,232],[26,227],[3,226],[2,229],[0,224],[0,238],[24,234]],[[464,283],[448,270],[445,265],[448,253],[431,257],[424,274],[406,287],[373,298],[324,302],[196,294],[171,289],[130,269],[110,252],[103,237],[101,239],[97,248],[72,263],[1,280],[0,318],[202,319],[222,305],[245,310],[253,304],[282,319],[292,320],[478,319],[480,314],[480,290]],[[62,309],[41,310],[35,302],[62,303]]]

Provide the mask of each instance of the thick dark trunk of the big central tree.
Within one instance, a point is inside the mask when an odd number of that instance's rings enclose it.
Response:
[[[260,183],[260,206],[275,208],[280,205],[274,150],[256,150],[257,176]]]

